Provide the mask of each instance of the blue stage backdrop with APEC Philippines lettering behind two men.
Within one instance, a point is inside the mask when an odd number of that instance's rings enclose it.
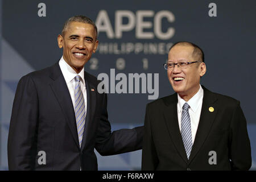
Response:
[[[256,1],[0,1],[1,169],[7,170],[7,136],[16,85],[23,75],[56,63],[57,35],[73,15],[89,16],[99,46],[85,70],[104,80],[112,129],[144,123],[148,102],[174,91],[163,68],[181,40],[205,52],[201,84],[241,101],[256,168]],[[137,81],[135,81],[137,80]],[[138,82],[139,80],[139,82]],[[139,83],[139,84],[138,84]],[[141,151],[98,156],[100,170],[140,170]]]

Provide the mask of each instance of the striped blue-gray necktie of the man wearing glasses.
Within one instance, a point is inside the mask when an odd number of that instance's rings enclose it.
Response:
[[[187,157],[189,159],[191,150],[192,150],[192,134],[191,134],[191,122],[188,113],[189,105],[187,102],[182,107],[182,114],[181,114],[181,137],[184,143],[185,151]]]

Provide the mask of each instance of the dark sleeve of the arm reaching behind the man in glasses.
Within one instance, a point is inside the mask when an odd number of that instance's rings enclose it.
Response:
[[[97,127],[96,150],[101,155],[115,155],[142,149],[143,126],[111,131],[107,96],[103,94],[102,112]]]

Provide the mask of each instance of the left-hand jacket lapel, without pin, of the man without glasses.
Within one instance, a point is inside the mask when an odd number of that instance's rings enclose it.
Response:
[[[53,82],[51,82],[49,85],[51,86],[52,91],[59,102],[63,115],[65,116],[69,129],[73,135],[73,139],[75,140],[77,147],[79,147],[75,112],[68,86],[59,67],[59,61],[53,65],[50,77],[52,78]]]

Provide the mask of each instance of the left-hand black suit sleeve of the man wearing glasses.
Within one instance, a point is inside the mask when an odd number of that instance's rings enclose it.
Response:
[[[146,107],[146,114],[144,120],[144,136],[142,147],[142,170],[152,171],[156,170],[158,166],[158,156],[155,150],[155,144],[152,139],[152,130],[150,122],[150,111],[148,105]]]

